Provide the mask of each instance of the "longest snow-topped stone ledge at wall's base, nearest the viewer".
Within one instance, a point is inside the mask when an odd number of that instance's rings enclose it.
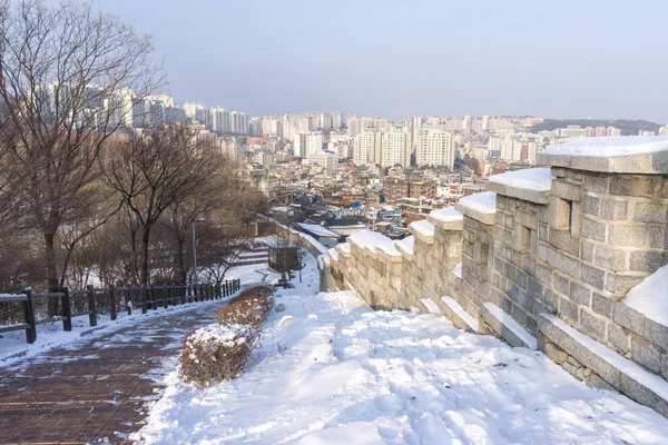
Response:
[[[538,317],[540,333],[612,388],[668,417],[668,382],[636,365],[551,314]],[[590,386],[595,385],[587,379]]]

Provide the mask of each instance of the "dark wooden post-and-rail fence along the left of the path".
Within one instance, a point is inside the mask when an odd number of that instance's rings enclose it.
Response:
[[[72,318],[88,315],[90,326],[97,326],[98,314],[109,314],[111,320],[118,318],[118,313],[141,308],[146,314],[149,309],[167,308],[169,305],[184,305],[194,301],[207,301],[224,298],[240,289],[238,279],[225,280],[220,286],[203,284],[197,286],[144,286],[144,287],[108,287],[94,288],[88,286],[85,290],[69,290],[67,287],[58,293],[23,294],[0,297],[0,305],[4,303],[19,303],[22,305],[23,323],[11,326],[0,325],[0,334],[13,330],[26,330],[26,340],[35,343],[37,326],[47,323],[62,322],[63,330],[72,330]],[[35,304],[60,299],[60,315],[48,318],[36,318]]]

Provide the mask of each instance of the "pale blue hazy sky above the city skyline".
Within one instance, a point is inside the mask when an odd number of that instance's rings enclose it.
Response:
[[[177,101],[668,122],[666,0],[97,0],[154,36]]]

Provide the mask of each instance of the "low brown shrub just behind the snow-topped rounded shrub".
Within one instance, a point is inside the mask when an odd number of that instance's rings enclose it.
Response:
[[[259,329],[274,306],[272,293],[272,288],[266,286],[246,289],[216,310],[214,318],[224,325],[248,325]]]

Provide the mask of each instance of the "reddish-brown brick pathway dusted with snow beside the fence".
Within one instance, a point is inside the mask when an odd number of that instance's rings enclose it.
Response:
[[[0,443],[124,441],[138,431],[147,400],[159,397],[160,367],[184,335],[210,323],[224,301],[166,310],[75,346],[0,368]]]

